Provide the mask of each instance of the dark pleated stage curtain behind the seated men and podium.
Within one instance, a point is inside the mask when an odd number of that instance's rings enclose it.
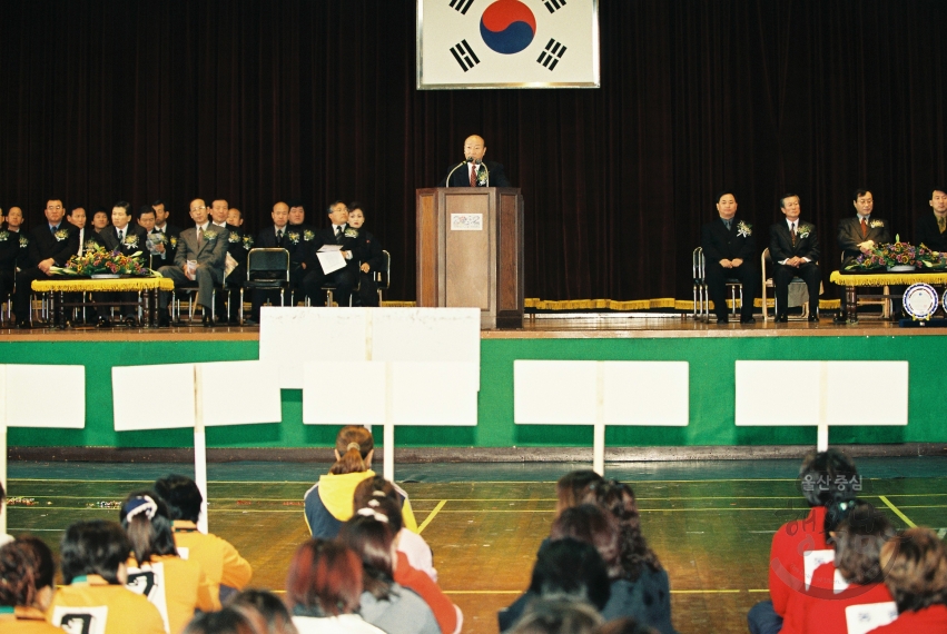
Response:
[[[798,192],[827,264],[859,186],[911,236],[947,177],[944,23],[943,0],[600,0],[601,89],[417,91],[408,0],[2,2],[0,206],[162,198],[187,225],[223,197],[256,229],[359,199],[414,299],[414,190],[479,132],[526,200],[527,297],[688,298],[721,187],[761,237]]]

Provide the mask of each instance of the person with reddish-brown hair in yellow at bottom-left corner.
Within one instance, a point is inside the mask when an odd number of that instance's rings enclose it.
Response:
[[[52,553],[39,539],[17,539],[0,548],[0,632],[62,634],[46,622],[52,601]]]

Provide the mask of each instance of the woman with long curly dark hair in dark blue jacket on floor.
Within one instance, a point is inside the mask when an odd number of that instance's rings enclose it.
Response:
[[[590,485],[586,499],[618,521],[621,573],[612,583],[612,600],[602,615],[605,618],[631,616],[664,634],[674,632],[671,625],[670,579],[658,555],[641,534],[634,492],[630,486],[612,479]],[[572,533],[582,531],[581,524],[573,523],[572,526],[564,525],[560,529]],[[582,538],[579,534],[574,536]],[[614,608],[619,606],[627,607],[615,612]]]

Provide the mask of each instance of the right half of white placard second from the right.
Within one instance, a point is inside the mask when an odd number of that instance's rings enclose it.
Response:
[[[603,361],[602,365],[605,425],[688,425],[687,361]]]

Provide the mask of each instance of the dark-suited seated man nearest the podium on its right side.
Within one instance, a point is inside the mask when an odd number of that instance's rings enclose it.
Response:
[[[717,196],[720,217],[703,226],[701,247],[707,270],[707,286],[718,324],[727,324],[727,280],[738,279],[743,285],[743,304],[740,324],[756,324],[753,304],[759,290],[760,276],[756,265],[757,239],[752,225],[737,220],[737,198],[731,191]]]

